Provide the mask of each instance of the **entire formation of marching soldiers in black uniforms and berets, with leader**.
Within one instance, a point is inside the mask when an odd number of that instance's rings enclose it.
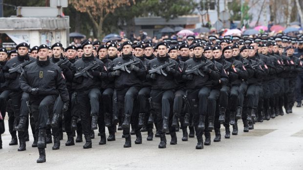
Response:
[[[8,113],[9,145],[19,139],[18,151],[25,151],[30,126],[37,163],[46,161],[46,144],[60,149],[63,132],[65,146],[83,142],[84,134],[89,149],[97,129],[99,145],[122,130],[124,148],[131,147],[131,134],[142,144],[141,132],[148,132],[147,141],[159,137],[158,148],[167,147],[166,135],[176,145],[181,129],[182,141],[196,136],[195,149],[203,149],[213,130],[220,142],[221,124],[230,138],[240,120],[249,132],[256,122],[292,113],[295,101],[301,107],[302,55],[302,35],[283,34],[156,44],[85,39],[66,48],[20,43],[10,52],[0,49],[0,133]]]

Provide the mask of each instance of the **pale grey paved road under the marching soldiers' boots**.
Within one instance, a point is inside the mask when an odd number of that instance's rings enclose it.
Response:
[[[84,142],[66,147],[64,135],[60,150],[52,151],[52,144],[47,145],[43,164],[36,163],[39,153],[37,148],[31,148],[32,136],[26,142],[26,151],[18,152],[18,146],[8,146],[11,137],[6,131],[2,134],[0,169],[303,170],[303,109],[294,108],[293,112],[257,123],[255,130],[249,133],[244,133],[243,124],[239,123],[239,134],[230,139],[224,139],[225,132],[221,129],[221,142],[212,141],[211,146],[204,146],[203,150],[195,150],[196,138],[181,141],[182,132],[177,132],[178,144],[168,144],[166,149],[158,149],[159,138],[146,141],[147,132],[142,133],[141,145],[134,144],[132,135],[132,147],[123,148],[125,140],[121,138],[122,131],[118,131],[116,141],[98,145],[98,136],[92,140],[93,148],[87,150],[82,148]],[[5,123],[7,126],[7,120]],[[169,143],[169,135],[167,140]]]

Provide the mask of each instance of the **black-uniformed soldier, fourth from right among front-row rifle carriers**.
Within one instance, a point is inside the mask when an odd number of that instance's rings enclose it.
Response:
[[[101,98],[100,85],[101,80],[100,77],[92,77],[92,69],[94,71],[105,72],[103,62],[95,58],[92,54],[92,43],[90,41],[86,41],[82,45],[82,49],[84,50],[84,55],[81,59],[77,60],[73,64],[73,72],[75,74],[82,73],[83,69],[87,67],[92,67],[88,69],[86,74],[81,76],[74,76],[74,80],[72,83],[72,87],[77,93],[76,103],[78,112],[81,117],[81,124],[83,128],[83,133],[86,139],[86,144],[83,146],[84,149],[91,148],[91,130],[97,129],[97,119],[99,114],[99,102]],[[94,66],[93,66],[94,65]],[[87,107],[90,106],[88,109]],[[90,111],[91,110],[91,111]],[[90,122],[90,113],[92,114],[92,120]],[[76,120],[77,115],[73,114],[72,121]]]

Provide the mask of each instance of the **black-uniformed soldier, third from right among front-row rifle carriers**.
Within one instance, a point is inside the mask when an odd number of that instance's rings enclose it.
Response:
[[[142,86],[142,80],[145,79],[146,71],[143,62],[140,59],[133,57],[131,53],[131,43],[129,41],[124,42],[121,48],[123,55],[122,57],[113,60],[109,76],[114,78],[118,107],[124,114],[122,124],[123,134],[125,136],[124,148],[129,148],[131,147],[130,123],[137,136],[135,144],[142,143],[142,137],[140,137],[141,132],[138,127],[138,115],[133,112],[133,107]],[[130,73],[128,73],[127,70],[122,70],[122,68],[113,70],[114,67],[119,67],[128,62],[133,62],[132,64],[125,66]]]

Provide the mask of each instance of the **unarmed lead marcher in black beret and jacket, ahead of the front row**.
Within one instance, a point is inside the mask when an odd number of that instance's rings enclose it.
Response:
[[[37,61],[24,68],[20,76],[22,91],[30,94],[31,108],[36,122],[38,135],[39,159],[37,163],[43,163],[45,159],[45,133],[49,106],[52,106],[61,95],[63,110],[68,109],[68,92],[61,69],[50,62],[47,56],[48,47],[43,44],[38,47]]]

